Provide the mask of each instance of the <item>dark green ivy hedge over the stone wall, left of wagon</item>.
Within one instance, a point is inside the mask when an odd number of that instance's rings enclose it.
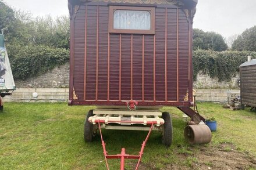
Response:
[[[8,55],[15,79],[26,79],[69,61],[69,50],[43,45],[8,45]]]

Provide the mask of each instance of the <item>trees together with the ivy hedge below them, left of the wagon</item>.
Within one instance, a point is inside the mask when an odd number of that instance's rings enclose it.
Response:
[[[69,60],[69,17],[33,18],[30,13],[9,8],[0,0],[0,29],[5,34],[15,79],[45,73]]]

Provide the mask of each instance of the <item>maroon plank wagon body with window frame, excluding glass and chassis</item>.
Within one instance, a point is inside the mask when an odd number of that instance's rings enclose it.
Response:
[[[118,3],[117,3],[118,2]],[[191,106],[195,1],[70,1],[70,105]],[[113,11],[145,10],[151,29],[117,30]]]

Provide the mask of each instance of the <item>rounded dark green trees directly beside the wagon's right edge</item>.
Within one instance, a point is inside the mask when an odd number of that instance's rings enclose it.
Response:
[[[227,44],[221,34],[204,32],[195,28],[193,30],[193,50],[197,49],[223,51],[227,49]]]

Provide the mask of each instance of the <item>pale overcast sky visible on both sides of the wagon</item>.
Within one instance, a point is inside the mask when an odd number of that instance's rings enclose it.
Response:
[[[4,0],[34,16],[68,15],[67,0]],[[215,31],[223,37],[241,34],[256,25],[256,0],[198,0],[194,28]]]

